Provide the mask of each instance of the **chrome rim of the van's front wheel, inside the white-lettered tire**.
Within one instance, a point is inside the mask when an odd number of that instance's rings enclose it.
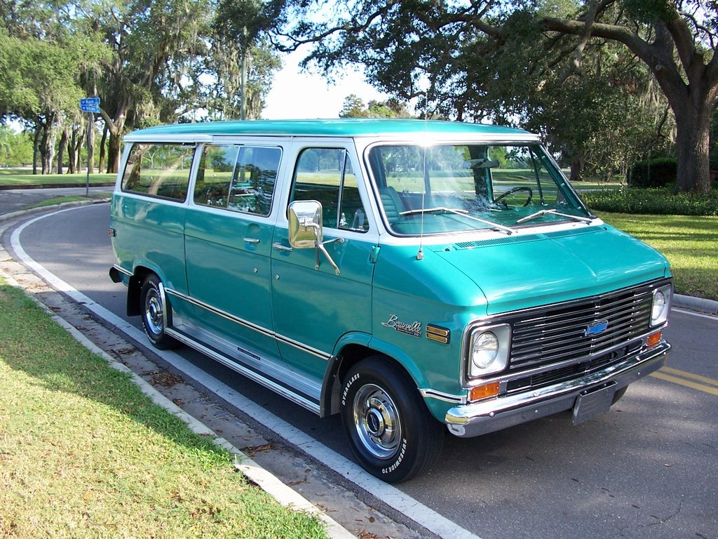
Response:
[[[401,442],[401,420],[391,397],[374,384],[354,396],[354,424],[363,446],[378,459],[391,459]]]

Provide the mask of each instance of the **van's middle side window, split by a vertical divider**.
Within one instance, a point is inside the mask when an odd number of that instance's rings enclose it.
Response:
[[[281,149],[220,146],[202,150],[195,183],[195,204],[268,216]]]

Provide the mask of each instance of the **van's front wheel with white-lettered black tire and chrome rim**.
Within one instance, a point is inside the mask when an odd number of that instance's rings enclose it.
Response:
[[[441,453],[444,425],[435,420],[409,377],[390,359],[372,356],[350,369],[341,414],[352,453],[373,476],[407,481]]]

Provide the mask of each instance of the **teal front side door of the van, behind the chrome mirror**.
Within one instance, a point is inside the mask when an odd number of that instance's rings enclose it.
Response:
[[[352,153],[350,145],[301,149],[287,201],[322,204],[327,254],[339,274],[324,254],[317,258],[316,249],[290,246],[286,213],[272,241],[272,306],[281,357],[319,380],[342,335],[371,331],[370,254],[376,241],[370,238],[376,231],[370,231]],[[342,242],[332,241],[338,239]]]

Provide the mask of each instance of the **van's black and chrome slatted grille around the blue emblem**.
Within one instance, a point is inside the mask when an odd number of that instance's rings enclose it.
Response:
[[[648,331],[651,282],[568,303],[528,310],[513,321],[510,372],[595,357]],[[587,328],[607,322],[605,331],[587,335]]]

